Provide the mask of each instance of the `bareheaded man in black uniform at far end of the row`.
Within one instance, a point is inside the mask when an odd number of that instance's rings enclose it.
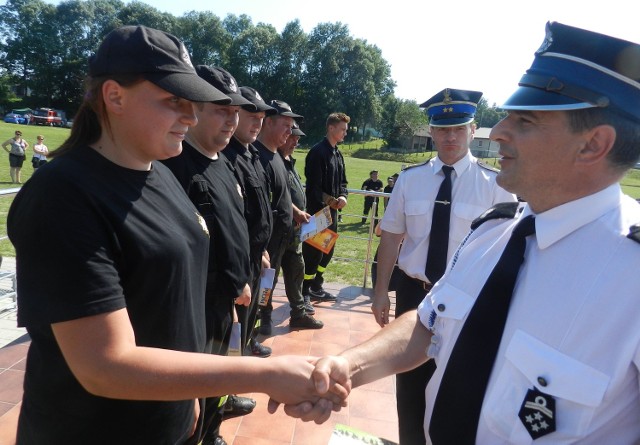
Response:
[[[309,150],[304,174],[307,179],[307,211],[313,215],[325,206],[331,207],[334,232],[338,231],[338,210],[347,205],[347,176],[344,158],[338,150],[338,143],[344,141],[349,130],[351,118],[344,113],[331,113],[327,118],[326,137]],[[303,293],[316,301],[335,301],[336,297],[325,291],[324,271],[333,256],[333,248],[329,253],[304,243],[304,283]]]

